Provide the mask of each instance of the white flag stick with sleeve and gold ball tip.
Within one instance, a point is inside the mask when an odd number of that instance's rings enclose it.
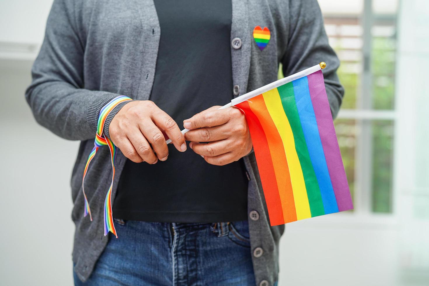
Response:
[[[225,109],[225,108],[231,107],[233,105],[239,104],[240,102],[243,102],[243,101],[246,101],[248,99],[251,99],[254,96],[260,95],[260,94],[262,94],[264,92],[267,92],[268,90],[272,90],[274,88],[277,88],[277,87],[279,87],[279,86],[281,86],[283,84],[287,84],[288,82],[294,81],[294,80],[296,80],[298,78],[302,78],[304,76],[310,75],[313,72],[317,72],[320,69],[324,69],[325,67],[326,67],[326,63],[325,62],[321,62],[318,65],[312,66],[312,67],[310,67],[308,69],[304,69],[304,70],[302,70],[300,72],[297,72],[297,73],[295,73],[293,75],[289,75],[289,76],[287,76],[285,78],[281,78],[278,81],[274,81],[274,82],[272,82],[270,84],[264,85],[263,87],[260,87],[258,89],[252,90],[251,92],[248,92],[248,93],[245,93],[245,94],[243,94],[243,95],[241,95],[239,97],[236,97],[233,100],[231,100],[230,103],[228,103],[228,104],[226,104],[226,105],[224,105],[224,106],[222,106],[222,107],[220,107],[218,109]],[[182,134],[185,134],[188,131],[189,131],[189,129],[183,129],[182,130]],[[166,143],[170,144],[171,143],[171,139],[168,139],[166,141]]]

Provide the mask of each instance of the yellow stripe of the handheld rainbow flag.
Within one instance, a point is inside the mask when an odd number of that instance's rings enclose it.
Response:
[[[292,128],[284,113],[280,95],[278,94],[277,88],[269,90],[262,95],[268,112],[283,141],[284,151],[289,165],[293,198],[295,200],[296,218],[298,220],[309,218],[311,217],[311,212],[310,205],[308,204],[307,190],[305,189],[304,175],[302,174],[301,164],[299,163],[298,154],[296,153]]]

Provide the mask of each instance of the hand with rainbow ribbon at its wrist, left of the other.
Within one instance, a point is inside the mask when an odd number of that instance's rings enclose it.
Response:
[[[161,131],[168,135],[178,151],[186,151],[185,138],[177,123],[150,100],[127,103],[109,125],[113,144],[136,163],[155,164],[158,160],[167,160],[168,147]]]

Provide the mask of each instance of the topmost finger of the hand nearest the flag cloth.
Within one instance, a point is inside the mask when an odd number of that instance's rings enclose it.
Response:
[[[183,126],[187,129],[197,129],[202,127],[213,127],[225,124],[230,120],[231,109],[208,110],[195,114],[193,117],[183,121]]]

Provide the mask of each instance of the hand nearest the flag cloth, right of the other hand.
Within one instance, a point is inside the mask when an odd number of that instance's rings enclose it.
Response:
[[[185,139],[189,147],[212,165],[238,161],[252,150],[252,139],[246,117],[239,108],[213,106],[190,119],[183,126],[190,129]],[[208,143],[199,143],[208,142]]]

